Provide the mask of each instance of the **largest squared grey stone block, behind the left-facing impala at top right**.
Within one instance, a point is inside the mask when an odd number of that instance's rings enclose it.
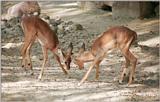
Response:
[[[145,18],[154,13],[152,2],[116,1],[112,6],[113,18]]]

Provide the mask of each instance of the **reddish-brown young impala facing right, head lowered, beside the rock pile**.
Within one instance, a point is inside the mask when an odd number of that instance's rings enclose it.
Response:
[[[56,58],[58,64],[62,68],[63,72],[67,74],[66,69],[70,68],[71,58],[69,56],[72,53],[72,44],[70,44],[67,53],[65,53],[67,57],[64,57],[65,63],[64,65],[62,65],[60,57],[58,55],[58,49],[59,49],[58,37],[56,33],[54,33],[51,30],[51,28],[46,22],[44,22],[38,16],[24,15],[22,17],[21,26],[25,35],[24,44],[21,49],[22,67],[29,67],[29,69],[32,70],[30,49],[34,41],[38,39],[39,43],[42,46],[42,51],[43,51],[43,64],[38,79],[40,80],[44,73],[44,67],[46,65],[46,61],[48,60],[48,54],[47,54],[48,50],[50,50],[53,53],[54,57]]]

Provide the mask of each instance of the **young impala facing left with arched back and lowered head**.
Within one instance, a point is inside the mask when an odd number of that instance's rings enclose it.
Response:
[[[90,51],[84,51],[85,45],[83,44],[81,49],[79,50],[78,55],[74,59],[74,63],[79,66],[79,69],[84,68],[85,62],[93,61],[93,63],[89,67],[87,73],[82,78],[79,85],[81,85],[87,79],[89,73],[91,72],[94,66],[96,67],[96,79],[98,79],[99,64],[104,59],[107,52],[114,48],[120,49],[126,60],[125,67],[122,67],[122,74],[120,76],[119,82],[122,83],[123,78],[126,74],[126,69],[131,63],[132,69],[130,72],[128,85],[131,84],[134,78],[137,58],[130,52],[129,48],[136,39],[136,32],[130,30],[127,27],[117,26],[110,28],[109,30],[104,32],[100,37],[98,37],[93,42]]]

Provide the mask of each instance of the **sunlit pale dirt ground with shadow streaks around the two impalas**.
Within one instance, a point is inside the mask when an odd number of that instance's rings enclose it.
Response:
[[[40,47],[33,46],[32,61],[34,75],[27,75],[21,68],[19,48],[22,42],[2,43],[1,84],[2,102],[155,102],[159,100],[159,18],[112,19],[107,11],[84,11],[76,2],[39,2],[42,15],[60,17],[64,21],[81,24],[93,39],[111,26],[124,25],[138,34],[139,46],[131,51],[138,58],[135,81],[127,86],[127,81],[118,83],[120,67],[124,58],[120,51],[110,53],[100,65],[100,78],[95,80],[95,69],[87,81],[78,86],[91,63],[79,70],[73,63],[69,75],[64,75],[49,54],[50,67],[47,67],[42,81],[37,77],[42,63]],[[3,7],[3,6],[2,6]],[[90,39],[91,41],[93,39]],[[2,37],[2,40],[3,39]],[[83,40],[83,39],[82,39]],[[8,41],[9,42],[9,41]],[[79,42],[82,43],[82,42]],[[35,44],[39,46],[39,44]],[[76,46],[79,47],[79,46]]]

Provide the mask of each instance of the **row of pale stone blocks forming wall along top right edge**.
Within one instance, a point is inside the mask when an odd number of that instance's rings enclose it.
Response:
[[[157,15],[155,7],[158,2],[153,1],[83,1],[79,7],[85,10],[103,9],[111,7],[113,18],[146,18]],[[158,8],[158,7],[157,7]]]

